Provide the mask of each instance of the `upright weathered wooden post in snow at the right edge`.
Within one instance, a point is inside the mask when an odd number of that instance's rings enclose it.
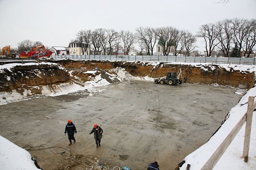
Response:
[[[254,108],[255,108],[254,96],[250,96],[248,100],[248,108],[247,108],[247,116],[246,116],[245,142],[243,143],[243,159],[245,162],[248,162],[250,137],[251,137],[251,124],[253,121]]]

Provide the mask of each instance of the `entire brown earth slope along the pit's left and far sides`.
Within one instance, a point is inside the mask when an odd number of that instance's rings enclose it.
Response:
[[[48,60],[48,62],[59,63],[65,69],[57,65],[42,66],[16,66],[11,70],[5,69],[0,73],[0,92],[11,92],[16,90],[22,94],[24,90],[30,90],[31,94],[41,94],[42,86],[51,86],[53,84],[72,82],[68,71],[73,71],[72,75],[79,77],[84,82],[88,80],[90,74],[84,74],[85,70],[108,71],[116,67],[124,68],[133,76],[150,76],[158,78],[166,76],[167,72],[178,72],[181,68],[182,75],[187,76],[187,83],[213,84],[217,83],[222,86],[238,87],[239,84],[247,84],[249,88],[254,86],[254,72],[226,70],[218,65],[180,65],[175,63],[150,63],[150,62],[125,62],[125,61],[75,61],[65,60]],[[82,70],[81,70],[82,68]],[[215,69],[212,69],[215,68]],[[112,73],[113,74],[113,73]],[[215,80],[214,80],[215,79]],[[77,82],[77,81],[76,81]]]

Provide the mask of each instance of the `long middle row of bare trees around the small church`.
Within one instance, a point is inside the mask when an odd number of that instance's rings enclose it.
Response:
[[[180,52],[185,52],[185,55],[188,55],[196,47],[196,35],[173,27],[139,27],[135,33],[123,30],[117,32],[114,29],[104,28],[94,31],[89,29],[79,31],[76,36],[76,40],[88,44],[90,51],[93,51],[94,54],[111,55],[119,50],[119,46],[123,46],[123,51],[127,55],[133,45],[138,43],[141,53],[146,52],[147,55],[152,55],[159,40],[164,56],[170,54],[171,46],[175,46],[173,52],[175,56]],[[82,50],[84,54],[89,54],[90,51],[85,48]]]

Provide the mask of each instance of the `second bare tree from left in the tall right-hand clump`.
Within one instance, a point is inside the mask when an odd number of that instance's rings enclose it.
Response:
[[[217,23],[217,40],[218,48],[222,50],[225,57],[229,57],[230,49],[232,49],[232,40],[234,37],[234,31],[232,29],[232,21],[230,19],[225,19]]]

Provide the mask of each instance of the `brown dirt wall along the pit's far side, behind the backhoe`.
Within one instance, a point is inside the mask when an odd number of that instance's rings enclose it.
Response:
[[[213,84],[217,83],[222,86],[238,87],[239,84],[247,84],[249,88],[254,86],[255,75],[254,72],[239,70],[226,70],[218,65],[211,66],[192,66],[192,65],[176,65],[172,63],[160,62],[157,66],[153,66],[150,62],[125,62],[125,61],[74,61],[74,60],[59,60],[52,61],[59,63],[66,69],[79,69],[86,67],[86,69],[108,70],[115,67],[122,67],[133,76],[150,76],[158,78],[159,76],[166,76],[167,72],[174,71],[178,73],[181,68],[183,77],[187,76],[187,83],[203,83]],[[213,69],[215,68],[215,69]],[[216,81],[214,81],[216,79]]]

